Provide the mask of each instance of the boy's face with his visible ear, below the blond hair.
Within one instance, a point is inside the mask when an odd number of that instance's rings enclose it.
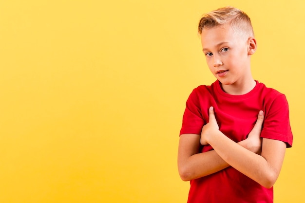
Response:
[[[243,85],[252,79],[253,37],[241,37],[228,25],[216,26],[203,29],[201,43],[210,71],[223,85]]]

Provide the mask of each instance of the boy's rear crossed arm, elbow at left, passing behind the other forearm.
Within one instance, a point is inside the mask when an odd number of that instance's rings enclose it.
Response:
[[[264,115],[258,120],[246,140],[237,145],[252,152],[261,153],[262,142],[260,138]],[[200,135],[182,134],[178,147],[178,171],[183,181],[190,181],[218,172],[230,165],[220,157],[215,150],[204,153],[199,152]],[[203,145],[207,144],[202,142]],[[236,144],[236,143],[235,143]]]

